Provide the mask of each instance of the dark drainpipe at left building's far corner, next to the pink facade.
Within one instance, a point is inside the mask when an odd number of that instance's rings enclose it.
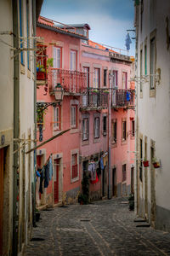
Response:
[[[36,37],[36,0],[32,1],[32,21],[33,21],[33,37]],[[33,48],[36,48],[36,39],[33,39]],[[36,67],[36,51],[34,51],[34,147],[37,147],[37,67]],[[34,150],[34,173],[32,183],[32,221],[36,226],[36,167],[37,167],[37,150]]]

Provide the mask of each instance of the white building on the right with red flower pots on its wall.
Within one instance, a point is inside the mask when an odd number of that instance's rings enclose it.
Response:
[[[135,1],[136,176],[139,216],[170,230],[170,3]],[[148,162],[147,162],[148,161]]]

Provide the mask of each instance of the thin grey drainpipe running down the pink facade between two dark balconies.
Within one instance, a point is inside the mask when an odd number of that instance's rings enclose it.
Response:
[[[111,199],[111,74],[109,75],[109,109],[108,109],[108,167],[109,167],[109,188],[108,199]]]

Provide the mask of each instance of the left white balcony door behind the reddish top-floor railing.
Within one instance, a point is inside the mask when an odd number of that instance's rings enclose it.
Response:
[[[60,47],[54,47],[53,52],[53,58],[54,58],[54,70],[53,70],[53,84],[54,86],[59,84],[62,84],[62,73],[60,68],[62,67],[62,49]]]

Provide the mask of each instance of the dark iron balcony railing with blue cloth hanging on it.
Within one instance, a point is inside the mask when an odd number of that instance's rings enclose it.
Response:
[[[111,107],[123,108],[133,106],[133,90],[113,89],[111,90]]]

